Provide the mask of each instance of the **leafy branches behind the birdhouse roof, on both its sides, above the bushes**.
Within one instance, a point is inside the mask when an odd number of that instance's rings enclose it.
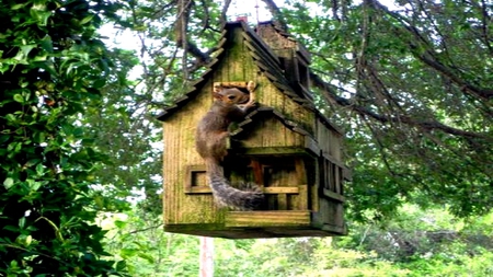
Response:
[[[135,111],[158,113],[186,90],[214,56],[221,23],[234,20],[227,15],[242,12],[234,4],[128,3],[117,25],[139,47],[136,101],[146,108]],[[354,219],[391,217],[403,203],[459,217],[491,209],[491,5],[261,2],[313,55],[319,108],[347,135]]]

